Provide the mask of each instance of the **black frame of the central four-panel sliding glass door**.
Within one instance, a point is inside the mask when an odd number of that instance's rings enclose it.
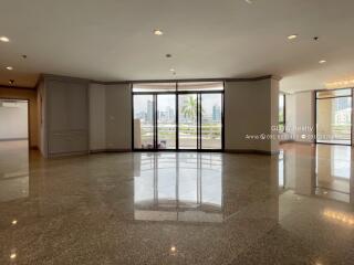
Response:
[[[165,92],[133,92],[134,84],[131,85],[131,94],[132,94],[132,150],[133,151],[201,151],[201,152],[220,152],[225,150],[225,82],[222,83],[222,91],[178,91],[179,82],[170,82],[175,83],[175,91],[165,91]],[[184,82],[186,83],[186,82]],[[197,95],[197,149],[180,149],[179,148],[179,95],[186,94],[196,94]],[[221,149],[202,149],[201,146],[201,100],[202,94],[218,94],[221,95]],[[134,146],[134,96],[135,95],[153,95],[154,100],[154,148],[153,149],[142,149],[135,148]],[[157,148],[157,95],[175,95],[175,109],[176,109],[176,148],[175,149],[158,149]]]

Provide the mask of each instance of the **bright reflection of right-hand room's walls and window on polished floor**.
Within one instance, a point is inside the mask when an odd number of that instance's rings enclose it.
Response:
[[[283,145],[279,160],[280,187],[294,189],[300,194],[351,202],[354,200],[353,193],[351,195],[352,151],[348,146]]]

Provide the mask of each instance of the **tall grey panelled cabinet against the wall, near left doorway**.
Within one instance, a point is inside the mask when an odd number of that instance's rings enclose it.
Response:
[[[88,83],[44,80],[49,157],[88,152]]]

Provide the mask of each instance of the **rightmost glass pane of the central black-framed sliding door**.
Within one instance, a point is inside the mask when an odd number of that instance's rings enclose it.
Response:
[[[222,148],[222,95],[201,94],[201,149]]]

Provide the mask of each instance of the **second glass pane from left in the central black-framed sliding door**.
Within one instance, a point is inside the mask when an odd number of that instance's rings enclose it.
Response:
[[[157,95],[157,149],[176,149],[176,95]]]

